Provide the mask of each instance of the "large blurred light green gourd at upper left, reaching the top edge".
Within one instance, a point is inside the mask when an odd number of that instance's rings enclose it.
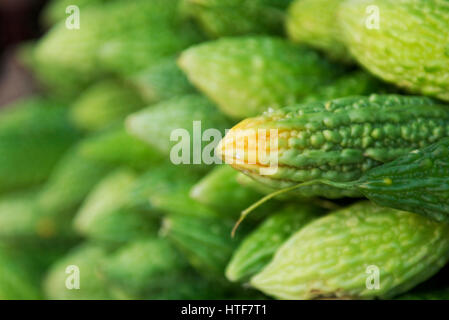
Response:
[[[50,88],[84,88],[110,71],[133,73],[192,43],[176,28],[177,0],[108,1],[81,16],[78,29],[61,21],[38,43],[39,78]]]

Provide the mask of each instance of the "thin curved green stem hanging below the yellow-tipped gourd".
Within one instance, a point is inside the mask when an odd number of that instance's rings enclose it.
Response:
[[[284,189],[272,192],[272,193],[266,195],[265,197],[263,197],[262,199],[260,199],[259,201],[253,203],[250,207],[248,207],[242,211],[242,213],[240,214],[239,220],[237,220],[236,224],[234,225],[234,228],[232,229],[231,236],[232,237],[235,236],[235,232],[237,231],[237,228],[240,226],[240,224],[243,222],[243,220],[245,220],[245,218],[248,216],[248,214],[250,214],[252,211],[254,211],[258,207],[260,207],[265,202],[267,202],[267,201],[273,199],[274,197],[281,195],[283,193],[287,193],[287,192],[293,191],[295,189],[298,189],[301,187],[306,187],[306,186],[309,186],[312,184],[317,184],[317,183],[322,183],[325,185],[329,185],[329,186],[341,188],[341,189],[351,189],[351,188],[354,188],[354,186],[356,185],[355,182],[332,182],[329,180],[311,180],[311,181],[307,181],[307,182],[303,182],[303,183],[294,185],[292,187],[288,187],[288,188],[284,188]]]

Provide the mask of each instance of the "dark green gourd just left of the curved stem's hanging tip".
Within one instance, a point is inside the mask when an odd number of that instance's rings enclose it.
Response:
[[[210,217],[171,215],[164,220],[163,234],[184,253],[205,277],[222,279],[232,253],[245,230],[231,237],[235,221]]]

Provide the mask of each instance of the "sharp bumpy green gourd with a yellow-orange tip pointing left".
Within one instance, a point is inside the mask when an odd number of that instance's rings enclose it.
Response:
[[[267,129],[267,134],[277,129],[278,145],[270,150],[267,139],[267,152],[251,162],[258,138],[243,142],[259,129]],[[449,108],[423,97],[371,95],[295,105],[246,119],[228,132],[217,151],[237,170],[285,188],[316,179],[354,181],[363,172],[448,134]],[[262,176],[263,164],[274,158],[277,171]],[[298,191],[329,198],[360,195],[321,185]]]

